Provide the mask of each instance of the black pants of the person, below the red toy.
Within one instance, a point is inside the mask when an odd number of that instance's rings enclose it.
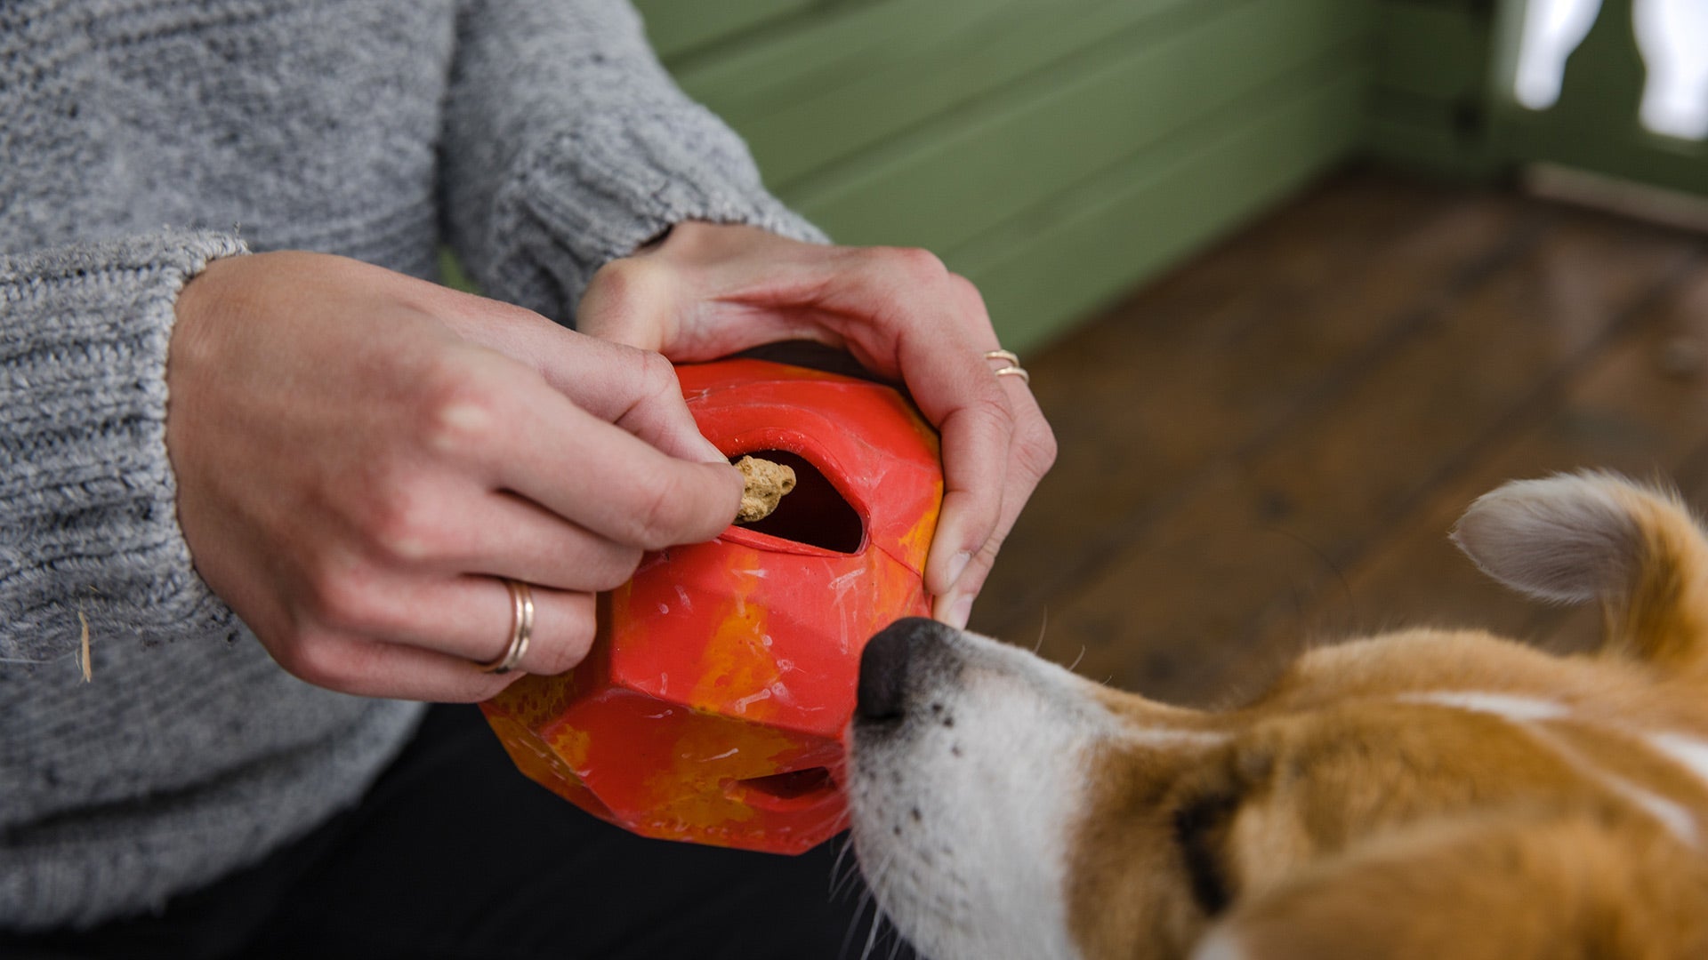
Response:
[[[634,837],[523,777],[478,709],[436,705],[359,808],[162,916],[0,934],[0,957],[854,958],[874,909],[842,844],[784,858]],[[876,943],[912,957],[893,929]]]

